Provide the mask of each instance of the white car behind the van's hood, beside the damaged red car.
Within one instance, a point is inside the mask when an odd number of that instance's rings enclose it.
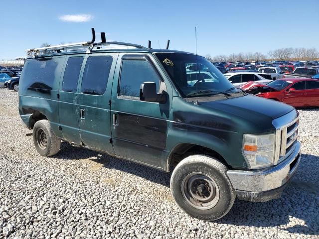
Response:
[[[270,74],[259,73],[259,72],[229,72],[224,76],[235,86],[241,87],[249,81],[255,81],[260,84],[268,84],[272,81]]]

